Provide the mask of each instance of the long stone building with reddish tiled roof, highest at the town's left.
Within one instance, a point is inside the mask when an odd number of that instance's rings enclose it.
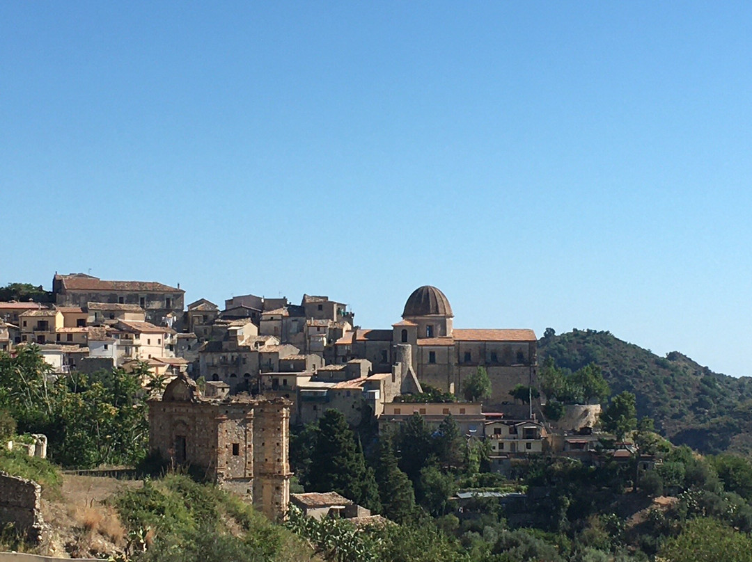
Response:
[[[154,324],[162,324],[169,318],[183,317],[185,291],[162,283],[103,281],[84,273],[55,273],[52,290],[59,306],[86,307],[89,302],[137,304],[146,312],[146,319]]]

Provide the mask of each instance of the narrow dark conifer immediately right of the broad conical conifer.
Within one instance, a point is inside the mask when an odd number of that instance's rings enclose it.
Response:
[[[415,509],[415,492],[408,475],[399,470],[389,435],[379,439],[376,482],[382,513],[398,523],[407,522]]]

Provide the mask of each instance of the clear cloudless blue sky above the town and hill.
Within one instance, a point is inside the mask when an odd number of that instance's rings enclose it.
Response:
[[[752,375],[750,154],[750,2],[0,3],[0,285],[434,285]]]

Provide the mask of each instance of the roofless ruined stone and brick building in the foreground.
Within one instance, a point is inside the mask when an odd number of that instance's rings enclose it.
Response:
[[[290,402],[248,396],[204,397],[196,382],[174,379],[149,401],[149,448],[206,471],[217,484],[249,497],[271,519],[290,502]]]

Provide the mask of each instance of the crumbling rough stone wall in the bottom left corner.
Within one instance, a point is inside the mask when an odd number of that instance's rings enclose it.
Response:
[[[0,471],[0,526],[12,523],[32,543],[41,541],[41,487],[32,480]]]

